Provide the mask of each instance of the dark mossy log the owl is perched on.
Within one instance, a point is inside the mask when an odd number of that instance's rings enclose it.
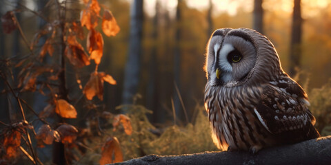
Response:
[[[331,135],[297,144],[264,148],[255,155],[244,151],[147,155],[117,164],[331,164]]]

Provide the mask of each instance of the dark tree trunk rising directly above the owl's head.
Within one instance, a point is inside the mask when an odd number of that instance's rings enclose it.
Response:
[[[254,0],[253,29],[263,34],[263,0]]]

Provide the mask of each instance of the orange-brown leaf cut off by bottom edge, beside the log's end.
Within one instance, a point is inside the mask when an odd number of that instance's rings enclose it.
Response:
[[[117,140],[117,137],[108,137],[106,143],[102,146],[99,163],[103,165],[117,162],[123,162],[123,153],[121,151],[121,146],[119,145],[119,140]]]

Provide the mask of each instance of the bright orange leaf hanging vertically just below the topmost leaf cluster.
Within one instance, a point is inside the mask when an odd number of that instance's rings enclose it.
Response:
[[[91,54],[90,58],[99,65],[103,54],[103,38],[101,33],[93,29],[90,30],[88,32],[86,47],[88,47],[88,52]]]

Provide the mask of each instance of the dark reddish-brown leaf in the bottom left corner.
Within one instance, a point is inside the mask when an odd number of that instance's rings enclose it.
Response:
[[[19,131],[13,130],[5,134],[2,146],[6,151],[6,157],[8,159],[18,156],[20,145],[21,145],[21,133]]]

